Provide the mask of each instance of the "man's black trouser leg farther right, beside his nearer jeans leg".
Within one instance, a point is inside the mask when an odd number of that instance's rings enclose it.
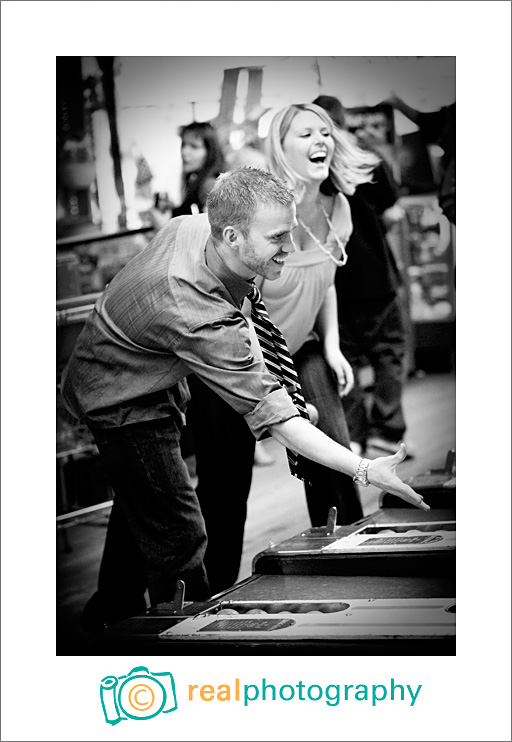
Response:
[[[256,440],[244,418],[206,384],[187,377],[197,497],[206,523],[205,566],[212,593],[234,585],[244,540]]]

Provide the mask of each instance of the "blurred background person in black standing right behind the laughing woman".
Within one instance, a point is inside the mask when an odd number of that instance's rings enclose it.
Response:
[[[338,98],[321,95],[315,102],[345,127]],[[361,134],[361,147],[374,152]],[[374,153],[376,154],[376,153]],[[406,377],[406,326],[399,287],[402,277],[386,239],[386,230],[403,217],[398,186],[389,165],[379,157],[371,183],[348,194],[353,231],[347,244],[347,263],[336,272],[341,350],[354,370],[354,387],[344,399],[347,422],[356,453],[372,456],[394,453],[406,424],[402,408]],[[360,382],[361,370],[373,370],[371,401]],[[408,455],[411,455],[410,445]]]

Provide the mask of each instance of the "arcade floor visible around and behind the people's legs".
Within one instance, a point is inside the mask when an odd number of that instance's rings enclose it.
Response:
[[[407,438],[415,449],[414,458],[399,466],[399,475],[407,479],[442,467],[447,451],[455,448],[455,375],[411,377],[403,403]],[[303,486],[289,475],[284,448],[273,439],[258,446],[268,461],[254,468],[239,580],[251,574],[254,555],[270,541],[279,543],[309,526]],[[192,469],[193,461],[188,463]],[[379,494],[371,486],[361,491],[365,515],[378,509]],[[87,637],[80,614],[96,589],[107,522],[108,510],[103,510],[87,522],[57,532],[57,655],[83,654]]]

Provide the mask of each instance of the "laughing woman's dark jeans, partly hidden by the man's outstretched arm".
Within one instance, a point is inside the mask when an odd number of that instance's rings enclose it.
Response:
[[[350,447],[350,435],[345,420],[344,402],[339,397],[337,382],[327,365],[320,343],[304,343],[293,356],[306,402],[318,410],[317,427],[336,443]],[[337,522],[354,523],[363,516],[359,493],[352,477],[307,462],[310,484],[305,485],[309,517],[313,526],[324,526],[329,508],[338,510]]]

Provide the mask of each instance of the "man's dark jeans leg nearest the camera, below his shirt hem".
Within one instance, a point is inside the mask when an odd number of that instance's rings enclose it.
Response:
[[[177,417],[177,416],[176,416]],[[210,595],[203,565],[206,534],[173,417],[93,431],[114,490],[98,590],[116,615],[172,600]],[[126,610],[122,610],[122,606]]]

